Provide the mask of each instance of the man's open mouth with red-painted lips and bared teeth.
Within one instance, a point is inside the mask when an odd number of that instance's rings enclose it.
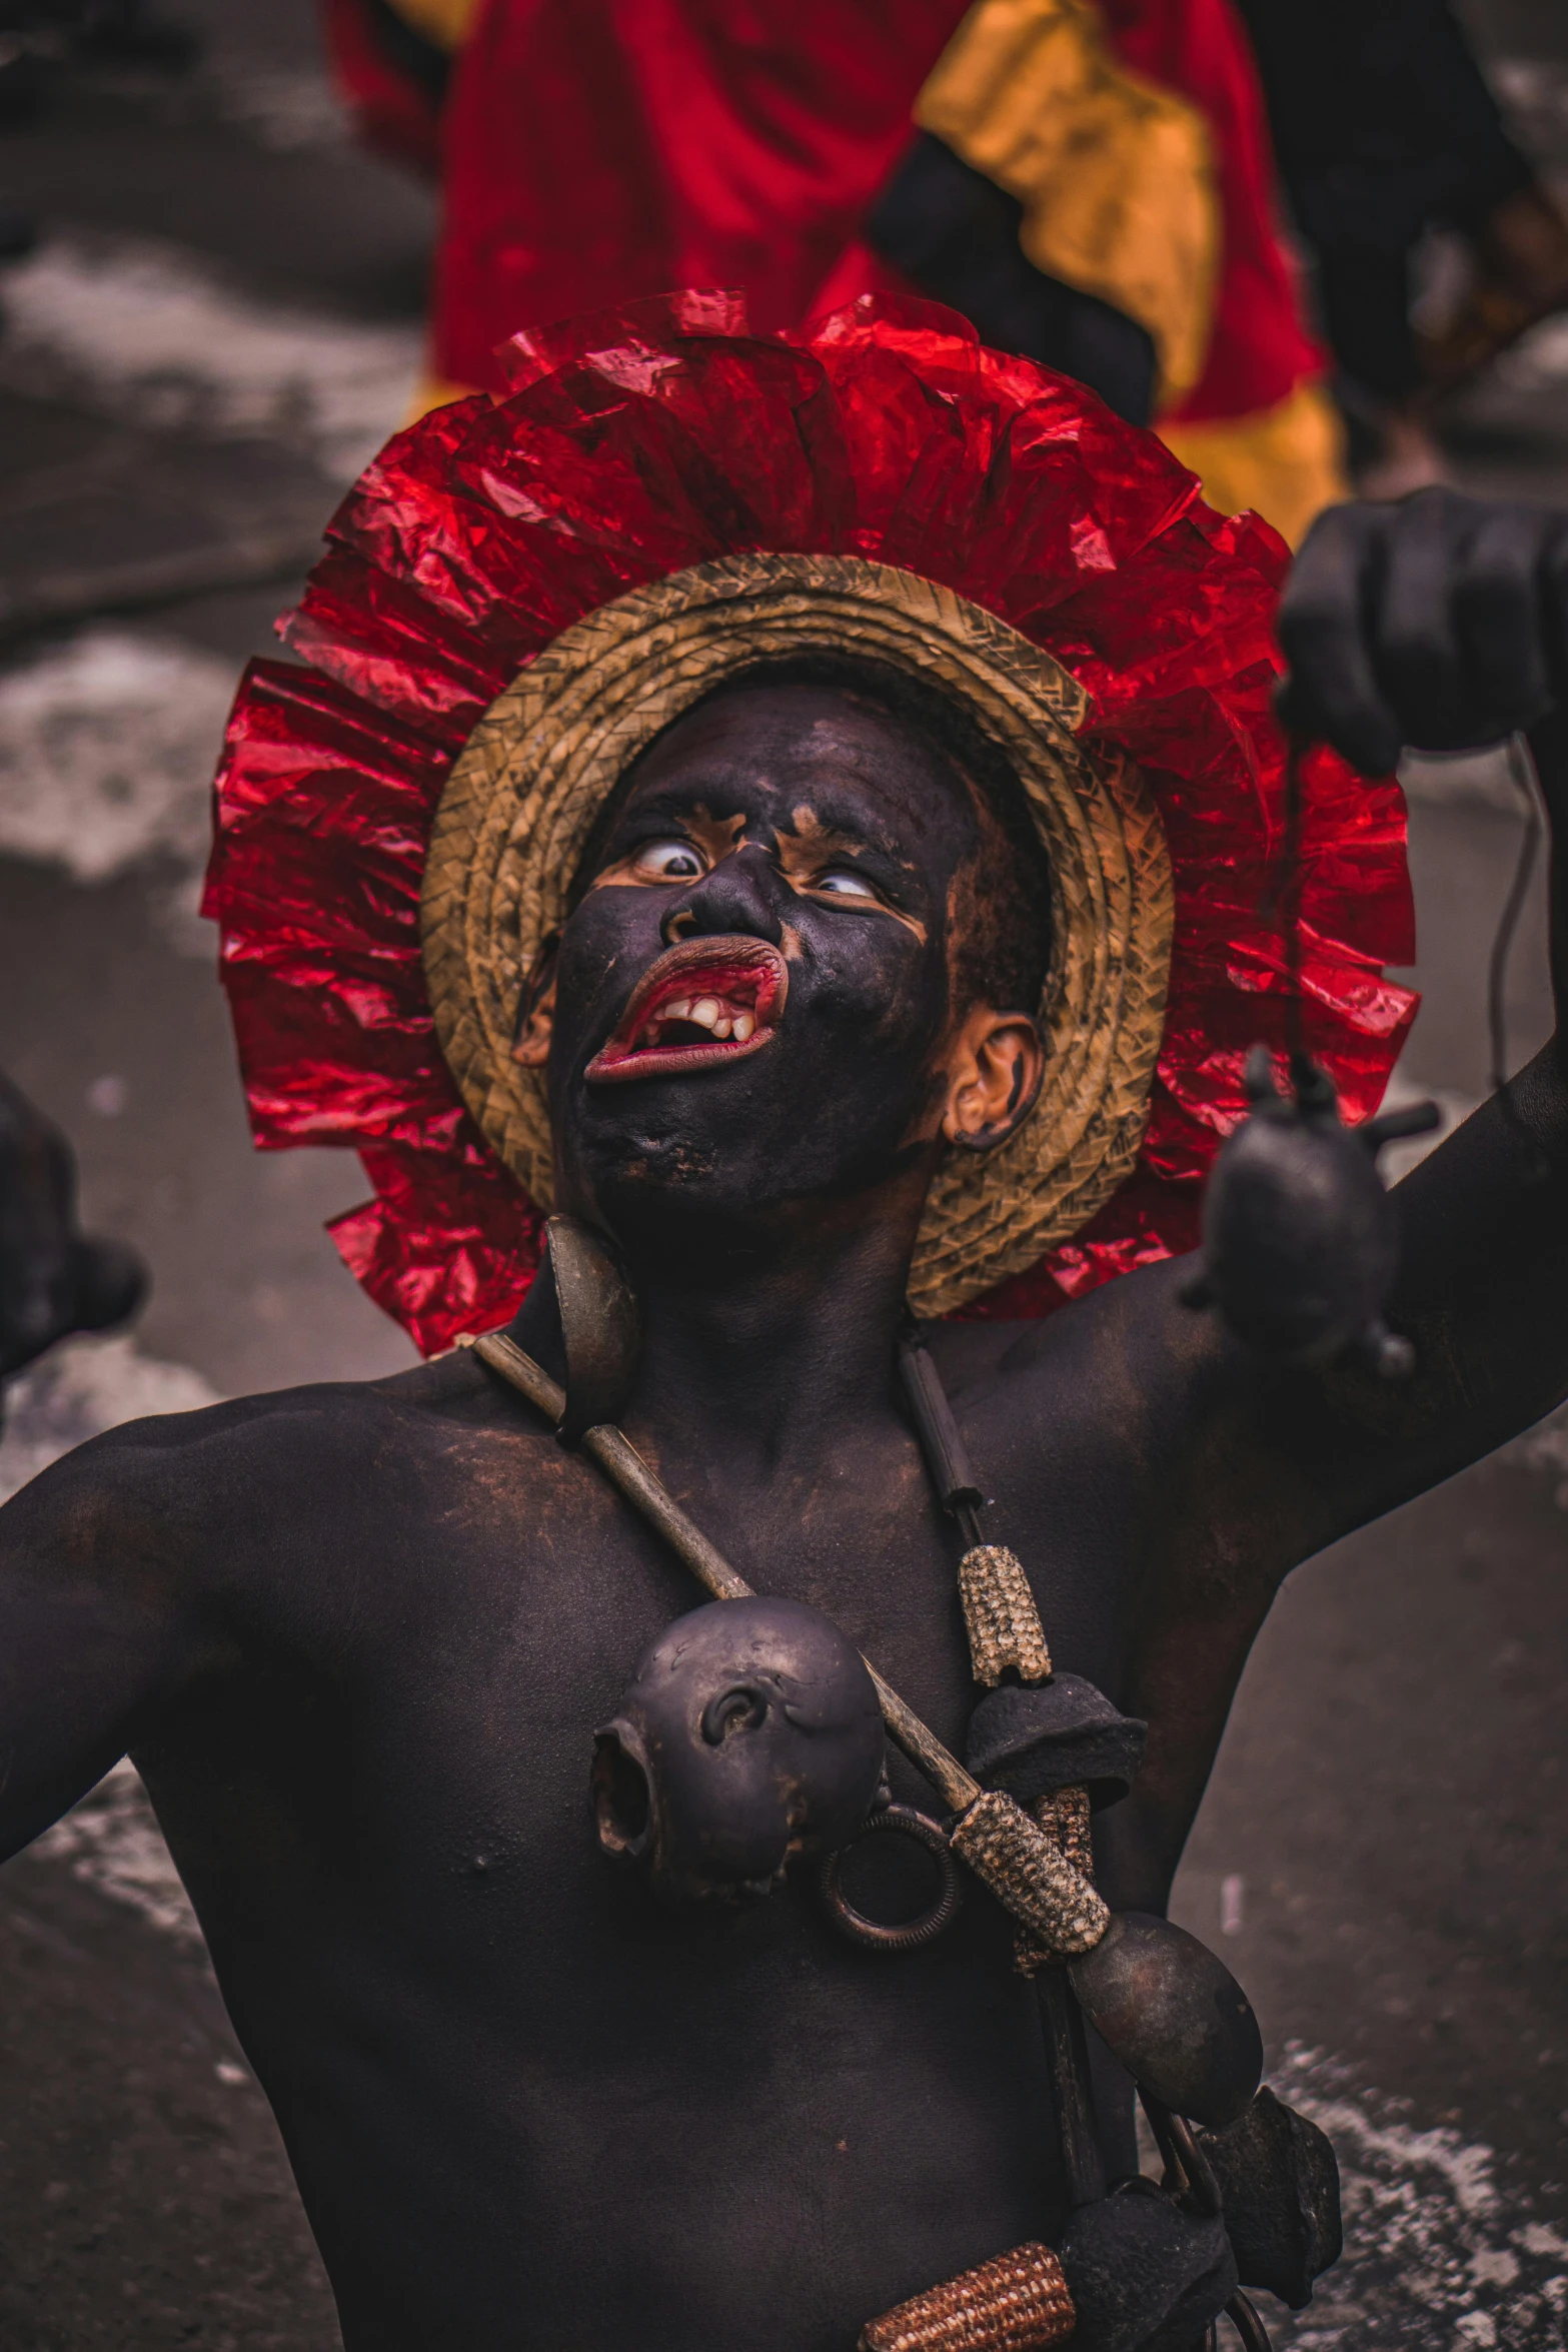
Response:
[[[788,990],[785,960],[766,938],[684,938],[649,964],[583,1075],[609,1084],[743,1061],[771,1040]]]

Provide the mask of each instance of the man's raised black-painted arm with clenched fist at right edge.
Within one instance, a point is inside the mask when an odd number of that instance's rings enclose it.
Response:
[[[1559,1028],[1399,1185],[1389,1322],[1415,1374],[1298,1378],[1269,1442],[1321,1512],[1302,1548],[1389,1510],[1568,1395],[1568,517],[1422,492],[1328,513],[1279,623],[1281,715],[1368,771],[1523,729],[1552,823]],[[1476,974],[1481,1000],[1483,974]]]

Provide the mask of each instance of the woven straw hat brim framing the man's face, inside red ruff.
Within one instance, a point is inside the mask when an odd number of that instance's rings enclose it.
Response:
[[[524,976],[567,915],[590,826],[625,767],[693,701],[757,663],[870,656],[959,699],[1025,788],[1051,858],[1056,955],[1039,1007],[1046,1082],[992,1152],[950,1152],[910,1296],[945,1315],[1034,1265],[1131,1174],[1171,964],[1171,861],[1128,760],[1077,741],[1086,699],[1051,654],[933,581],[853,555],[729,555],[562,630],[496,696],[435,818],[423,955],[463,1101],[527,1192],[550,1204],[541,1070],[510,1056]]]

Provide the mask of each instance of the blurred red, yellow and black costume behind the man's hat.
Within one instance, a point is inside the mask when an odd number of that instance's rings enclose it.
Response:
[[[1157,423],[1288,539],[1345,480],[1229,0],[329,0],[367,136],[433,167],[428,400],[672,285],[790,327],[875,287]]]

